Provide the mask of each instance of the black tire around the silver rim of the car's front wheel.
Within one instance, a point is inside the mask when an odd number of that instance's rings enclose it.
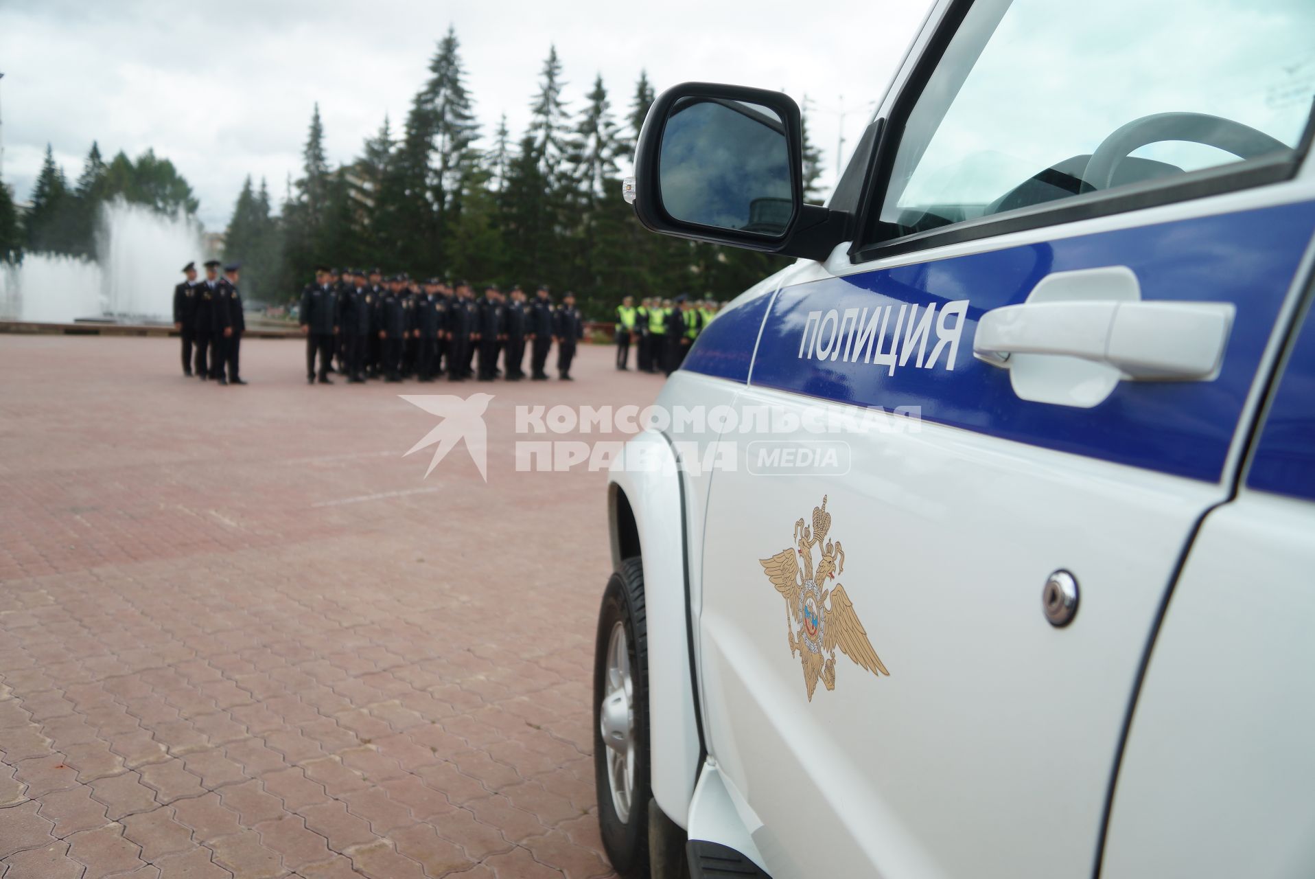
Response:
[[[608,746],[602,741],[602,697],[606,695],[608,647],[621,622],[633,682],[635,771],[630,815],[621,820],[608,782]],[[639,557],[627,558],[608,579],[598,609],[598,637],[593,654],[593,776],[598,797],[598,832],[617,872],[626,879],[648,876],[648,634],[644,621],[644,571]]]

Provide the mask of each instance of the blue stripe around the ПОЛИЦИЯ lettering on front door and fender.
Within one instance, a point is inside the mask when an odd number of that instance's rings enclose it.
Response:
[[[684,368],[746,382],[757,339],[753,314],[771,303],[752,362],[755,386],[863,407],[920,407],[928,421],[1214,482],[1312,229],[1315,203],[1307,201],[815,280],[718,317]],[[1007,370],[973,358],[984,312],[1024,301],[1051,272],[1101,266],[1128,266],[1144,300],[1235,303],[1219,376],[1122,382],[1099,405],[1080,409],[1020,400]],[[909,363],[893,374],[873,363],[800,357],[810,312],[956,300],[969,305],[953,370],[944,368],[945,353],[932,368]],[[742,309],[740,320],[718,326]]]

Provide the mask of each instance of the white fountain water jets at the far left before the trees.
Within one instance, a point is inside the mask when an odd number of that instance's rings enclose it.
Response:
[[[201,253],[191,217],[116,199],[101,207],[95,261],[36,253],[0,266],[0,320],[168,324],[179,268]]]

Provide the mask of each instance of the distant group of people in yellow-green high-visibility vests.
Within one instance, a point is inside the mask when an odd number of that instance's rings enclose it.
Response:
[[[640,372],[671,375],[685,362],[698,334],[713,322],[721,305],[711,299],[694,300],[681,293],[671,299],[643,299],[635,305],[626,296],[617,305],[617,368],[629,370],[630,346]]]

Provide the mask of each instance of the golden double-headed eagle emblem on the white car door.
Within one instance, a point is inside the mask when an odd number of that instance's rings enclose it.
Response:
[[[874,675],[890,674],[872,649],[868,632],[859,622],[859,615],[844,587],[836,583],[835,588],[826,588],[827,580],[834,580],[836,574],[844,571],[844,550],[840,541],[827,540],[830,530],[831,513],[826,512],[823,495],[822,505],[813,508],[811,528],[802,518],[794,522],[798,549],[781,550],[772,558],[759,559],[767,578],[785,599],[790,655],[798,651],[803,662],[809,701],[813,701],[818,678],[827,690],[835,690],[836,647]],[[817,570],[813,568],[814,547],[822,549]]]

